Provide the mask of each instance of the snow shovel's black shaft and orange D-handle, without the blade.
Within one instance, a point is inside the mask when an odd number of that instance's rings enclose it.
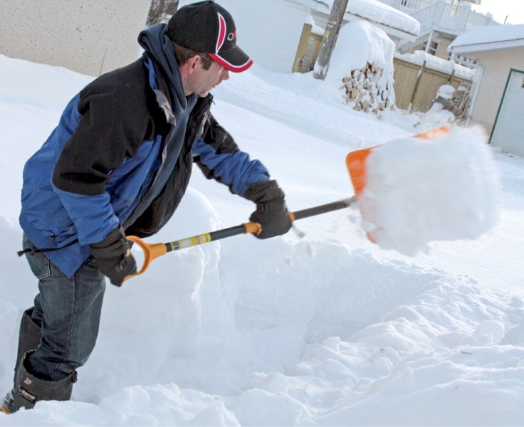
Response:
[[[340,201],[334,201],[332,203],[323,204],[320,206],[313,206],[312,208],[303,209],[301,211],[290,212],[289,216],[291,221],[296,221],[302,218],[308,218],[310,216],[326,214],[327,212],[337,211],[340,209],[347,208],[355,201],[355,196],[350,197],[349,199],[342,199]],[[224,228],[218,231],[211,231],[211,233],[199,234],[197,236],[192,236],[188,238],[182,238],[180,240],[171,241],[167,243],[146,243],[140,237],[137,236],[127,236],[127,240],[137,243],[142,251],[144,252],[144,263],[142,268],[134,274],[129,275],[125,278],[128,280],[134,278],[137,275],[145,273],[145,270],[149,268],[152,260],[159,258],[162,255],[165,255],[168,252],[179,251],[179,249],[190,248],[191,246],[198,246],[203,243],[209,243],[212,241],[217,241],[222,238],[237,236],[239,234],[258,234],[262,231],[261,225],[259,223],[243,223],[239,226],[234,226],[230,228]],[[125,281],[124,280],[124,281]]]

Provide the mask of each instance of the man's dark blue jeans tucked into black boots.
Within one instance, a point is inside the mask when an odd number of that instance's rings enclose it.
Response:
[[[25,235],[23,248],[34,248]],[[105,276],[91,257],[68,278],[44,253],[26,255],[38,278],[39,293],[31,319],[42,329],[40,344],[29,358],[29,368],[41,379],[59,381],[85,364],[93,352]]]

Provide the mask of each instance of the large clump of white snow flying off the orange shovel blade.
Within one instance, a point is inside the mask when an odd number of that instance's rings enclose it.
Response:
[[[497,218],[498,175],[480,127],[396,139],[371,150],[359,199],[384,249],[415,255],[430,241],[474,239]]]

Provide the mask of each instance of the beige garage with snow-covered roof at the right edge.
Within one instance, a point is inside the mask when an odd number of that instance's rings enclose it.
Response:
[[[450,51],[478,63],[468,122],[485,127],[493,146],[524,156],[524,25],[476,28]]]

